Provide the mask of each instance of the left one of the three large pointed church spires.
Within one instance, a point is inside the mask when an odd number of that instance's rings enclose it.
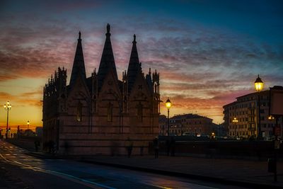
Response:
[[[86,68],[83,59],[83,47],[81,45],[81,31],[79,31],[78,44],[76,45],[76,55],[74,57],[73,68],[71,69],[70,86],[74,84],[76,79],[81,76],[81,79],[86,79]]]

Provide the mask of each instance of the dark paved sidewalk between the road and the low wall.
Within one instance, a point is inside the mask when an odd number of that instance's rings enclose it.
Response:
[[[180,176],[248,188],[283,188],[283,162],[277,162],[277,182],[266,161],[206,159],[182,156],[93,156],[83,161],[137,171]]]

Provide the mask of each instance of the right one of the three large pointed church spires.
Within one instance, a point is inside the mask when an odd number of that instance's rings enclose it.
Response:
[[[131,57],[129,57],[129,67],[127,71],[129,91],[132,90],[132,86],[134,85],[134,81],[136,79],[137,74],[141,72],[141,64],[139,63],[139,55],[137,53],[137,41],[135,34],[132,44],[132,52]]]

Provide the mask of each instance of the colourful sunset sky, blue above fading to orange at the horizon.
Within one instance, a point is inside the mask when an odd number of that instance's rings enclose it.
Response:
[[[12,129],[26,129],[28,120],[42,126],[43,86],[58,67],[67,68],[69,82],[79,31],[87,76],[98,69],[107,23],[119,78],[136,34],[142,69],[160,73],[171,116],[197,113],[221,123],[223,105],[254,92],[258,74],[265,89],[283,85],[283,1],[2,0],[0,103],[11,102]]]

